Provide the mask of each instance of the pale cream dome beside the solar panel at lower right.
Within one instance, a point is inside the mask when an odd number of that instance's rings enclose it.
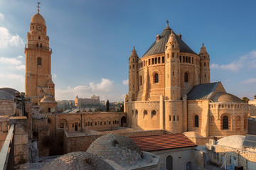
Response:
[[[215,145],[242,149],[242,143],[244,142],[244,140],[245,136],[243,135],[231,135],[221,138],[215,143]]]

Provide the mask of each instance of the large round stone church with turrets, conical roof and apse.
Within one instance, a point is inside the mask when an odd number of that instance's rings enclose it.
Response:
[[[210,82],[210,56],[166,28],[142,57],[129,57],[128,125],[137,130],[193,131],[202,137],[245,135],[248,105]]]

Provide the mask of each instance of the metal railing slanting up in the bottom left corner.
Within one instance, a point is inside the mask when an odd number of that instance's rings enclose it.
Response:
[[[14,169],[14,124],[9,129],[0,152],[0,170]]]

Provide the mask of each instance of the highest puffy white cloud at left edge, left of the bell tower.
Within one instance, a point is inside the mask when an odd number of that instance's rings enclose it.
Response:
[[[19,35],[12,35],[7,28],[0,27],[0,48],[24,44]]]

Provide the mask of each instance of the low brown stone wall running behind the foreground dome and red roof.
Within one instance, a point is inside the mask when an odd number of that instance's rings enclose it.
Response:
[[[132,132],[119,132],[119,130],[109,131],[108,133],[113,132],[119,135],[124,135],[127,137],[132,136],[144,136],[144,135],[164,135],[168,134],[166,130],[140,130]],[[101,135],[85,135],[85,133],[77,133],[77,135],[68,135],[68,132],[64,134],[64,154],[70,152],[86,152],[87,148],[90,147],[93,141],[100,137]]]

